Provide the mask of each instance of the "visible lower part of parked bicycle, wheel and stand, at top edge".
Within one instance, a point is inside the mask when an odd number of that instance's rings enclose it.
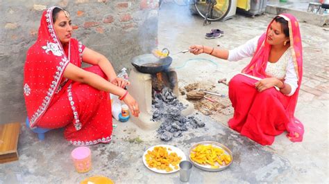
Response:
[[[194,8],[203,17],[203,26],[220,21],[230,11],[232,0],[194,0]]]

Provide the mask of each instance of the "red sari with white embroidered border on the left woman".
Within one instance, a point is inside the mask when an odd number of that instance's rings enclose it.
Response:
[[[62,46],[53,29],[53,8],[42,14],[37,42],[29,48],[24,66],[24,98],[30,127],[65,127],[65,138],[74,145],[110,142],[109,93],[63,77],[67,64],[81,67],[85,46],[73,38]],[[85,70],[107,79],[99,66]]]

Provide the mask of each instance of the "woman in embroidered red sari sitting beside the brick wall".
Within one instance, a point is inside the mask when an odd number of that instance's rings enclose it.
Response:
[[[108,143],[112,135],[109,92],[138,116],[135,99],[124,90],[106,57],[71,38],[69,13],[51,7],[42,13],[37,41],[24,66],[24,98],[30,127],[65,127],[74,145]],[[81,68],[86,62],[93,66]]]

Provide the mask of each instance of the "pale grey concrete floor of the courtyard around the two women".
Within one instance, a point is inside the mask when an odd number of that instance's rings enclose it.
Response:
[[[203,20],[191,16],[185,6],[164,4],[159,15],[159,48],[171,53],[185,50],[191,44],[220,45],[234,48],[264,32],[273,15],[254,19],[237,16],[224,22],[203,26]],[[305,126],[303,142],[292,143],[285,134],[276,137],[271,146],[262,147],[239,136],[227,127],[232,116],[198,117],[204,129],[191,129],[169,145],[188,154],[195,142],[214,140],[233,151],[233,164],[222,172],[204,172],[194,167],[190,183],[328,183],[328,33],[319,26],[301,23],[304,49],[303,85],[296,107],[296,117]],[[219,39],[204,39],[212,28],[224,30]],[[173,55],[172,66],[178,72],[179,86],[193,82],[214,84],[215,90],[227,94],[227,87],[217,84],[242,70],[250,59],[226,62],[208,55],[189,53]],[[143,131],[133,122],[114,122],[113,141],[92,149],[92,170],[86,174],[74,171],[69,157],[75,148],[62,137],[62,130],[47,133],[45,141],[22,127],[19,138],[19,161],[0,165],[1,183],[78,183],[84,178],[103,175],[116,183],[180,183],[178,172],[155,174],[142,163],[142,154],[153,145],[163,144],[155,131]],[[135,141],[140,138],[142,142]]]

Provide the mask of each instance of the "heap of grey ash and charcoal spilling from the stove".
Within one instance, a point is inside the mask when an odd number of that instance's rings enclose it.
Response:
[[[162,122],[157,130],[161,140],[169,141],[172,138],[183,136],[183,131],[187,131],[189,128],[205,127],[205,123],[194,116],[182,116],[181,111],[185,108],[173,91],[167,87],[160,93],[154,93],[152,120]]]

